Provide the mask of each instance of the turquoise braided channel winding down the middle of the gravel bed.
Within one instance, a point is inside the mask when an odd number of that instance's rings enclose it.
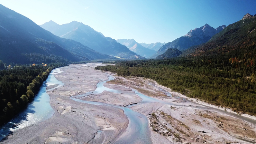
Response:
[[[150,144],[152,143],[151,138],[150,138],[150,129],[148,127],[148,119],[145,115],[140,114],[138,112],[132,111],[129,106],[127,107],[121,107],[117,105],[111,105],[111,104],[106,104],[106,103],[100,103],[100,102],[89,102],[89,101],[84,101],[81,99],[76,99],[82,96],[86,95],[91,95],[91,94],[99,94],[102,93],[104,90],[113,92],[113,93],[121,93],[118,90],[110,89],[105,86],[103,86],[104,83],[107,81],[115,79],[113,76],[109,76],[108,80],[101,81],[97,84],[97,88],[93,92],[88,92],[84,95],[78,95],[78,96],[72,96],[71,99],[77,101],[77,102],[82,102],[82,103],[87,103],[87,104],[93,104],[93,105],[105,105],[105,106],[112,106],[112,107],[117,107],[121,108],[124,110],[125,115],[127,116],[129,120],[128,127],[126,128],[126,132],[122,134],[116,144],[130,144],[130,143],[147,143]],[[143,100],[141,102],[153,102],[155,99],[151,97],[147,97],[145,95],[142,95],[138,93],[136,90],[134,90],[135,94],[137,94],[139,97],[141,97]],[[73,98],[76,97],[76,98]]]

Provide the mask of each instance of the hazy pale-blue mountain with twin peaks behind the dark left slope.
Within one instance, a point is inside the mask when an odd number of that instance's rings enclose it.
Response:
[[[52,24],[52,26],[49,24]],[[40,25],[40,27],[49,30],[56,36],[81,42],[81,44],[103,54],[122,58],[144,59],[144,57],[130,51],[116,40],[104,37],[102,33],[81,22],[72,21],[56,27],[56,24],[50,21]]]

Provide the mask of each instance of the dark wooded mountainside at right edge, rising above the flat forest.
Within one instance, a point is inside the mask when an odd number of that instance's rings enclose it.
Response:
[[[243,61],[243,57],[246,55],[255,55],[255,41],[256,15],[253,16],[247,13],[241,20],[228,25],[224,30],[214,35],[207,43],[191,47],[180,56],[194,57],[225,54]]]

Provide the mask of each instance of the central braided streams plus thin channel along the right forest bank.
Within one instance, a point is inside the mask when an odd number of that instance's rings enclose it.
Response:
[[[116,144],[120,144],[120,143],[127,143],[127,144],[129,144],[129,143],[137,142],[136,140],[139,140],[140,142],[148,143],[148,144],[152,143],[151,140],[150,140],[150,132],[149,132],[150,130],[149,130],[149,127],[148,127],[147,117],[145,115],[143,115],[143,114],[140,114],[138,112],[132,111],[129,108],[129,107],[131,107],[131,106],[133,106],[135,104],[128,105],[126,107],[121,107],[121,106],[111,105],[111,104],[106,104],[106,103],[101,103],[101,102],[89,102],[89,101],[83,101],[81,99],[77,99],[77,98],[84,97],[84,96],[89,96],[89,95],[92,95],[92,94],[100,94],[104,90],[112,92],[112,93],[121,93],[118,90],[110,89],[110,88],[107,88],[107,87],[105,87],[103,85],[107,81],[115,79],[111,75],[109,75],[108,78],[109,78],[108,80],[99,82],[97,84],[97,88],[93,92],[88,92],[88,93],[85,93],[83,95],[73,96],[73,97],[71,97],[71,99],[76,100],[78,102],[82,102],[82,103],[88,103],[88,104],[94,104],[94,105],[107,105],[107,106],[113,106],[113,107],[118,107],[118,108],[123,109],[124,113],[126,114],[126,116],[129,119],[129,125],[128,125],[127,129],[126,129],[126,132],[123,135],[121,135],[120,139],[117,142],[115,142]],[[165,90],[163,90],[161,88],[159,88],[159,90],[161,90],[161,92],[166,93],[167,96],[172,97],[172,95],[170,93],[166,92]],[[165,101],[160,100],[160,99],[148,97],[148,96],[145,96],[145,95],[139,93],[135,89],[132,89],[132,91],[134,91],[136,95],[138,95],[140,98],[142,98],[142,100],[138,104],[150,103],[150,102],[158,102],[158,103],[172,105],[172,106],[191,107],[191,106],[188,106],[188,105],[174,104],[174,103],[165,102]],[[179,97],[177,97],[177,98],[179,98]],[[185,100],[185,99],[183,98],[183,100]],[[194,103],[196,105],[200,105],[200,104],[197,104],[195,102],[192,102],[192,103]],[[230,113],[230,112],[222,111],[222,110],[217,109],[217,108],[208,107],[208,106],[204,106],[204,105],[197,106],[197,108],[203,108],[203,109],[207,109],[209,111],[217,111],[217,112],[220,112],[220,113],[225,113],[227,115],[231,115],[231,116],[234,116],[236,118],[246,120],[247,122],[256,124],[256,121],[253,120],[253,119],[250,119],[250,118],[247,118],[247,117],[243,117],[243,116],[240,116],[240,115],[235,114],[235,113]],[[253,143],[252,141],[244,140],[242,138],[239,138],[239,139],[243,140],[245,142]]]

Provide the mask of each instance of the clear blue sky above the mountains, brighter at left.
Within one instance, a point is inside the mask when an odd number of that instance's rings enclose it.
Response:
[[[256,14],[256,0],[0,0],[38,25],[79,21],[113,39],[170,42],[205,23],[216,28]]]

